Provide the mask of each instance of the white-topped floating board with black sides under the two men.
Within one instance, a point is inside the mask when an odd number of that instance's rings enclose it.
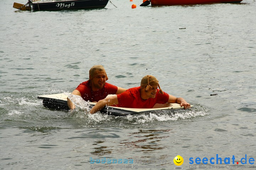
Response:
[[[43,105],[46,108],[54,110],[68,110],[67,95],[61,94],[52,94],[52,95],[42,95],[38,96],[38,99],[43,99]],[[91,107],[95,103],[89,102]],[[193,106],[191,106],[193,107]],[[166,103],[166,104],[156,104],[154,108],[150,109],[140,109],[140,108],[123,108],[123,107],[113,107],[106,106],[101,110],[101,113],[124,116],[128,114],[142,114],[150,111],[159,111],[159,110],[174,110],[174,109],[183,109],[178,103]]]

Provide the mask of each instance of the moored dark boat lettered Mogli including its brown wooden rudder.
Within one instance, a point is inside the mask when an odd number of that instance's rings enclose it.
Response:
[[[22,11],[69,10],[104,8],[108,0],[28,0],[27,4],[14,2],[13,7]]]

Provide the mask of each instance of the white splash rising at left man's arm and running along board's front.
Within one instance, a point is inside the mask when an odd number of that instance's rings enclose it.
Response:
[[[172,111],[154,111],[150,113],[143,113],[138,115],[127,115],[124,117],[115,117],[113,115],[101,114],[97,112],[90,114],[90,103],[84,101],[81,96],[72,95],[64,92],[69,97],[71,102],[76,106],[74,111],[69,111],[71,115],[75,115],[76,118],[82,119],[86,124],[96,125],[98,123],[128,123],[128,124],[144,124],[153,121],[176,121],[181,119],[190,119],[198,116],[208,115],[207,109],[200,105],[194,106],[192,109],[181,109]],[[112,122],[112,123],[114,123]],[[114,123],[115,124],[115,123]]]

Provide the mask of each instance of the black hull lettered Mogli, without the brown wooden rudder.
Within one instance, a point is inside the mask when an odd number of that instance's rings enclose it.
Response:
[[[44,3],[31,3],[32,10],[69,10],[69,9],[84,9],[84,8],[104,8],[108,0],[73,0],[73,1],[57,1]]]

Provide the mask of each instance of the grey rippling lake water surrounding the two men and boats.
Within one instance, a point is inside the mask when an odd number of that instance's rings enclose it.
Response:
[[[112,0],[117,8],[38,12],[16,11],[13,2],[0,6],[1,169],[109,169],[90,164],[104,158],[134,160],[105,164],[113,169],[175,169],[177,155],[183,169],[198,169],[189,158],[256,159],[253,0],[156,7]],[[95,64],[124,88],[152,74],[194,107],[114,117],[83,107],[51,111],[37,99],[72,92]]]

